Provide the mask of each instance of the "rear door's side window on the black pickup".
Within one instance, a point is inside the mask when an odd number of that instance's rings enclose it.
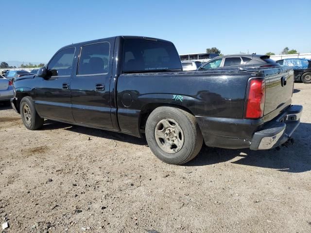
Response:
[[[108,42],[83,46],[77,74],[88,75],[108,73],[109,50],[110,44]]]

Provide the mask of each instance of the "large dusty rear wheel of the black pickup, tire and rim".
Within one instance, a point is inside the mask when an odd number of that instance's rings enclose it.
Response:
[[[167,141],[166,138],[163,139],[156,135],[156,130],[159,133],[171,132],[171,130],[174,128],[165,127],[164,125],[162,125],[162,129],[161,126],[161,122],[166,122],[170,120],[173,121],[170,123],[171,126],[174,124],[175,126],[172,127],[178,126],[178,128],[176,129],[181,129],[182,135],[181,132],[175,134],[175,137],[176,135],[178,135],[179,138],[177,139],[176,137],[175,139],[174,137],[170,138],[172,135],[165,134],[167,135],[165,136],[163,134],[163,136],[167,137],[167,139],[169,140]],[[167,125],[167,123],[165,123],[165,125]],[[156,127],[158,127],[158,129],[156,129]],[[171,130],[168,131],[169,129]],[[185,164],[192,160],[202,148],[203,137],[195,116],[178,108],[167,106],[156,108],[147,119],[145,134],[151,151],[155,154],[157,158],[168,164]],[[169,143],[172,143],[172,139],[178,141],[178,146],[173,145],[167,147],[166,145],[170,145]],[[176,147],[177,149],[174,149],[174,147]],[[170,150],[170,152],[167,152],[165,150]],[[173,152],[172,150],[178,151]]]

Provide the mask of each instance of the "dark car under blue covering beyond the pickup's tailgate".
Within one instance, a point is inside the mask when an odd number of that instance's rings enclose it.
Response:
[[[311,83],[311,60],[304,58],[286,58],[276,62],[283,67],[293,67],[295,81]]]

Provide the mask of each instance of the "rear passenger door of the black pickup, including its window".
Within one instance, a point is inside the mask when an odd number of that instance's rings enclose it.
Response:
[[[80,48],[77,72],[71,81],[72,114],[76,123],[113,128],[109,92],[113,45],[114,41],[106,41]]]

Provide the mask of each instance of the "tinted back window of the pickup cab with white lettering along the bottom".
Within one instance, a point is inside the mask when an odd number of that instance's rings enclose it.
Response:
[[[159,71],[182,69],[172,43],[127,40],[124,42],[123,71]]]

